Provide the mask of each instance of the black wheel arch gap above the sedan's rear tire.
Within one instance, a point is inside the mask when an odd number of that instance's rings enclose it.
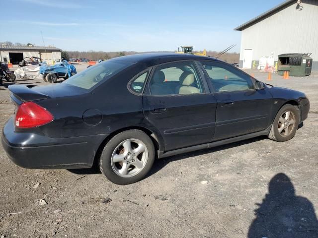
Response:
[[[123,132],[125,130],[133,130],[133,129],[136,129],[136,130],[141,130],[141,131],[144,131],[150,138],[151,140],[153,141],[154,143],[154,146],[155,146],[155,149],[156,150],[159,150],[159,140],[156,136],[156,134],[154,132],[152,132],[151,130],[145,128],[145,127],[141,127],[141,126],[130,126],[130,127],[125,127],[125,128],[121,128],[119,130],[116,130],[116,131],[113,131],[112,133],[110,133],[104,140],[103,142],[99,145],[96,153],[95,153],[95,157],[94,157],[94,161],[93,161],[93,166],[98,166],[97,165],[97,162],[98,162],[98,159],[100,158],[101,156],[101,153],[105,147],[105,145],[107,144],[107,142],[113,138],[115,135],[117,135],[118,133],[120,132]]]

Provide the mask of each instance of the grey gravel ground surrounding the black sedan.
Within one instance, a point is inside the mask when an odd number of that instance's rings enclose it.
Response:
[[[89,169],[19,168],[0,146],[0,237],[318,237],[318,76],[274,75],[269,83],[311,101],[292,140],[258,137],[165,158],[135,184],[116,185]],[[1,129],[13,113],[7,85]]]

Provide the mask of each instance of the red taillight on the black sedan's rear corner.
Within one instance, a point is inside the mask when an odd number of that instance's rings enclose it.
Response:
[[[22,103],[15,116],[15,126],[19,128],[31,128],[44,125],[53,120],[52,114],[45,108],[32,103]]]

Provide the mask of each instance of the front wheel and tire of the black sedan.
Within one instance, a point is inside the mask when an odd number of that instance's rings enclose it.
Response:
[[[300,112],[297,106],[286,104],[277,113],[268,138],[284,142],[292,139],[300,122]]]

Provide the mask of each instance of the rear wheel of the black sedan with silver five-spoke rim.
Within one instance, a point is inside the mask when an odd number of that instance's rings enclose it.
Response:
[[[155,161],[155,146],[141,130],[126,130],[104,147],[99,169],[110,181],[126,185],[143,179]]]

